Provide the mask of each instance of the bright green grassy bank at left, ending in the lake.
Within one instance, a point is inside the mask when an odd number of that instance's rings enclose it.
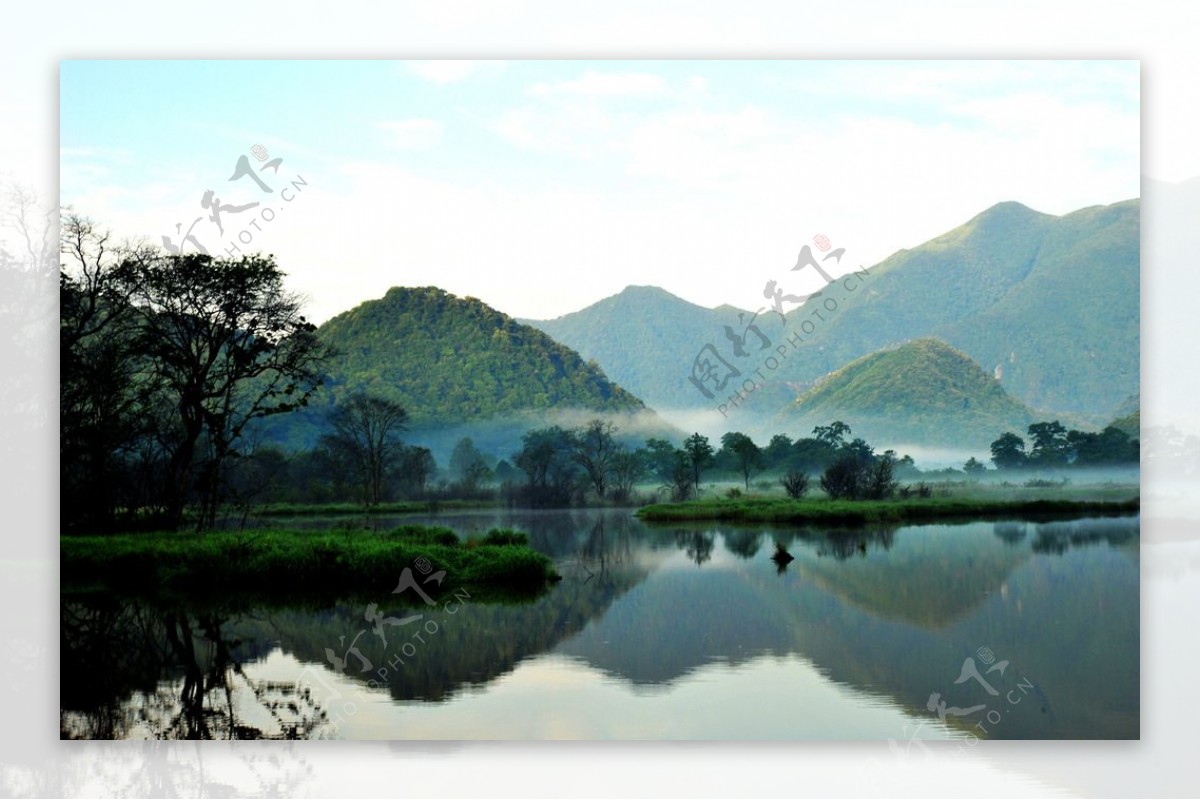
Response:
[[[388,533],[254,530],[64,536],[65,589],[178,595],[349,597],[391,591],[404,567],[426,558],[445,570],[442,587],[500,595],[536,594],[557,577],[524,534],[492,530],[460,541],[449,528],[404,525]],[[420,573],[414,570],[420,579]],[[437,584],[430,584],[433,589]],[[407,599],[415,593],[406,591]]]

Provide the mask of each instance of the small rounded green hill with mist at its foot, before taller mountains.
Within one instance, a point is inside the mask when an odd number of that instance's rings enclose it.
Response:
[[[787,417],[788,429],[841,420],[872,443],[958,446],[986,446],[1034,421],[992,375],[934,338],[852,361],[804,392]]]

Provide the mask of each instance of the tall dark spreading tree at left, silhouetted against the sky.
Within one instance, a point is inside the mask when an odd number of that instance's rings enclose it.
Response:
[[[283,288],[271,255],[142,257],[127,264],[137,347],[175,403],[168,513],[181,519],[199,461],[199,528],[211,525],[221,468],[252,420],[307,405],[330,349]],[[204,452],[200,452],[200,445]]]

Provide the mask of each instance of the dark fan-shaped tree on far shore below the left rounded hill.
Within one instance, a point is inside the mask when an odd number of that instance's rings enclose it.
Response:
[[[402,452],[400,434],[407,420],[408,411],[398,403],[368,395],[352,395],[330,414],[334,432],[326,434],[323,443],[344,453],[368,505],[378,505],[384,499],[386,477]]]

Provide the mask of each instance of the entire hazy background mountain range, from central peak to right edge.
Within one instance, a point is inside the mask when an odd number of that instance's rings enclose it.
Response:
[[[854,359],[936,337],[986,371],[998,368],[1001,385],[1026,405],[1103,425],[1139,392],[1139,234],[1136,199],[1063,216],[1000,203],[860,270],[853,288],[836,281],[822,305],[810,300],[782,319],[762,309],[757,323],[773,347],[802,331],[803,342],[739,413],[774,414]],[[794,288],[787,277],[784,291]],[[814,309],[827,302],[835,311],[816,321]],[[761,366],[730,354],[722,326],[742,330],[737,309],[700,308],[661,289],[631,287],[534,324],[660,408],[714,408],[688,380],[706,343],[743,375]],[[757,348],[756,338],[749,341]]]

